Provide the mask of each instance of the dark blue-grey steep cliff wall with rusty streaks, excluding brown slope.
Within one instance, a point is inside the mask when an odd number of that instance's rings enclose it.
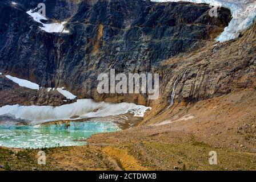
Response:
[[[54,34],[42,31],[38,27],[42,25],[25,13],[35,3],[0,3],[1,72],[45,87],[65,86],[79,97],[114,97],[112,101],[147,105],[146,96],[98,94],[98,74],[110,68],[125,73],[158,72],[161,61],[203,47],[231,18],[227,9],[219,10],[214,18],[209,16],[208,5],[187,2],[45,1],[51,22],[68,22],[69,34]],[[173,75],[173,69],[166,71],[161,75],[163,84],[166,76]]]

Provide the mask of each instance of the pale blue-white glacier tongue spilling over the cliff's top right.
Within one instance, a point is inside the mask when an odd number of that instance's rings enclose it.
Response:
[[[178,2],[182,0],[151,0],[154,2]],[[233,18],[229,26],[215,40],[226,42],[238,38],[239,34],[253,24],[256,17],[255,0],[183,0],[194,3],[208,3],[211,6],[226,7],[230,9]]]

